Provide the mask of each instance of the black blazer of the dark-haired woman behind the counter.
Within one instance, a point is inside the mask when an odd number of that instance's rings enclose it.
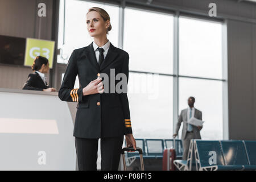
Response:
[[[49,88],[49,85],[44,84],[44,81],[37,72],[28,75],[26,83],[23,85],[23,90],[41,90]]]

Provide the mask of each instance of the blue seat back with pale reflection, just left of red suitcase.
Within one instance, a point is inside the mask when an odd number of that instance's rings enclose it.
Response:
[[[163,159],[163,139],[145,139],[145,142],[147,147],[147,156],[155,159]]]

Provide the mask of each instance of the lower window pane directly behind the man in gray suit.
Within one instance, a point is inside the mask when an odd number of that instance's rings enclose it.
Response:
[[[179,114],[188,107],[188,97],[196,99],[195,108],[202,111],[205,123],[200,131],[202,139],[222,139],[222,81],[179,78]],[[183,122],[182,122],[183,123]],[[176,126],[175,126],[176,128]],[[181,137],[180,127],[179,137]]]

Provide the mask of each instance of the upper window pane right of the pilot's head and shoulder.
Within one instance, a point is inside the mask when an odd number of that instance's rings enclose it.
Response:
[[[125,9],[123,48],[130,70],[173,73],[172,15]]]

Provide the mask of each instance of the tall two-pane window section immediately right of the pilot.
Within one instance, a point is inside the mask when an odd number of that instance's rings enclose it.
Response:
[[[172,15],[125,9],[123,49],[130,55],[129,74],[133,78],[129,80],[128,88],[134,84],[133,88],[142,88],[152,95],[148,97],[143,90],[140,93],[128,92],[132,126],[137,138],[170,138],[172,134],[173,30]],[[166,75],[156,76],[159,73]],[[154,82],[145,75],[157,79]],[[135,84],[138,80],[140,84]],[[148,82],[154,85],[147,88]]]

